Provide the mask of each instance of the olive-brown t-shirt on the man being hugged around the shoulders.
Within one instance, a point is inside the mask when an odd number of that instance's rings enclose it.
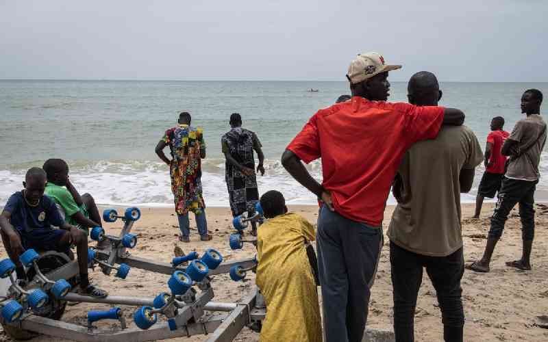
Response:
[[[482,161],[477,137],[466,126],[444,126],[435,140],[414,144],[398,170],[401,199],[388,228],[390,241],[432,257],[461,248],[460,170]]]

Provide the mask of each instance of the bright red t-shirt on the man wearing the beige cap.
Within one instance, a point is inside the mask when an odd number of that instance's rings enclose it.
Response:
[[[438,135],[443,112],[355,96],[319,110],[287,149],[305,163],[321,157],[322,185],[340,215],[380,226],[403,153]]]

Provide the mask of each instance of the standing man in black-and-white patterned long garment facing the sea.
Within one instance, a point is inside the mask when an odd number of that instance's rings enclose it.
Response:
[[[230,131],[221,137],[221,148],[225,155],[225,180],[228,187],[230,209],[234,217],[246,212],[255,213],[259,201],[257,176],[255,173],[256,151],[259,164],[257,172],[264,175],[262,145],[255,133],[242,128],[242,117],[238,113],[230,116]],[[256,235],[256,231],[251,232]]]

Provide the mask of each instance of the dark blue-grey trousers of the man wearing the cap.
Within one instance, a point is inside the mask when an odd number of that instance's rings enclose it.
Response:
[[[316,239],[325,342],[361,342],[382,228],[349,220],[324,206]]]

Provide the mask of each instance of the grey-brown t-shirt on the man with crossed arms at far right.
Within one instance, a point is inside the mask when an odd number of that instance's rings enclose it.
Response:
[[[510,156],[506,177],[523,181],[536,181],[540,177],[538,163],[546,142],[546,123],[538,114],[516,122],[507,138],[518,142],[517,156]],[[522,152],[523,151],[523,152]]]

